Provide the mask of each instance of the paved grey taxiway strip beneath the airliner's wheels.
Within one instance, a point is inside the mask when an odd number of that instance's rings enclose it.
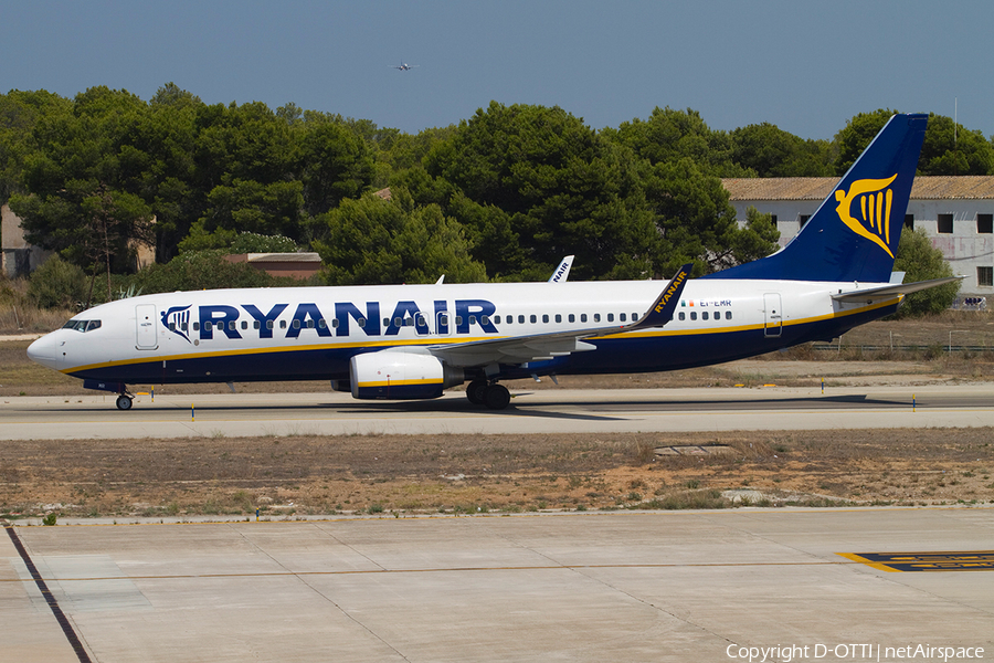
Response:
[[[994,425],[994,385],[827,389],[543,390],[510,408],[461,392],[431,401],[357,401],[346,393],[11,397],[0,439],[195,435],[653,432]]]

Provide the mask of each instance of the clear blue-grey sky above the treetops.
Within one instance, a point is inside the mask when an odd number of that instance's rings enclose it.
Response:
[[[670,106],[804,138],[958,103],[960,124],[994,134],[988,0],[0,0],[0,25],[2,92],[148,99],[173,82],[211,104],[293,102],[409,133],[491,99],[593,128]]]

